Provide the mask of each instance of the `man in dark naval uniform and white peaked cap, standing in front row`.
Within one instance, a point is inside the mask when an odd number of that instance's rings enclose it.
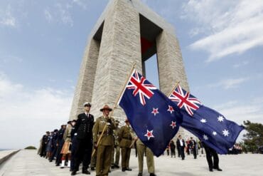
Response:
[[[85,112],[77,115],[75,124],[75,154],[74,166],[71,175],[76,175],[79,170],[80,162],[82,162],[82,173],[90,174],[87,167],[90,165],[92,154],[92,128],[94,125],[94,117],[90,114],[91,103],[83,104]]]

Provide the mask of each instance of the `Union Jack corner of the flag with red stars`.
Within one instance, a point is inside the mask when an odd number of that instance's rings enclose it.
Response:
[[[156,90],[157,88],[149,83],[144,76],[138,74],[138,72],[134,69],[131,78],[129,79],[129,83],[127,85],[127,89],[134,89],[133,95],[134,97],[139,94],[141,105],[145,105],[145,97],[150,99],[154,93],[151,90]]]

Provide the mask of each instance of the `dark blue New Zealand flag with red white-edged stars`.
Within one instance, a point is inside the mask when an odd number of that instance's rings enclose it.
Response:
[[[182,121],[179,108],[135,69],[119,100],[138,138],[159,157]]]

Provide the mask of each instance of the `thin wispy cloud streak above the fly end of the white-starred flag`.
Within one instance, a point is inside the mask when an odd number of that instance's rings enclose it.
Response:
[[[224,89],[230,89],[230,88],[238,88],[240,84],[245,83],[245,81],[248,81],[249,78],[228,78],[226,80],[222,80],[218,83],[213,83],[208,85],[210,88],[221,86]]]

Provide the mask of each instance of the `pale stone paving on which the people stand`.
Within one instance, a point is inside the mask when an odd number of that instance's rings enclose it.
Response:
[[[155,158],[156,175],[263,175],[263,155],[260,154],[242,154],[242,155],[220,155],[220,167],[222,172],[208,171],[208,164],[205,155],[199,155],[197,160],[193,155],[187,156],[186,160],[180,160],[178,157],[168,157],[163,155]],[[145,158],[146,159],[146,158]],[[131,172],[122,172],[112,170],[109,175],[113,176],[136,176],[138,174],[138,161],[132,151],[130,160]],[[55,167],[54,162],[48,162],[43,157],[36,155],[36,150],[21,150],[12,156],[9,160],[0,165],[1,176],[13,175],[70,175],[69,169]],[[78,172],[77,175],[82,175]],[[95,172],[91,172],[95,176]],[[144,161],[144,176],[149,175],[146,170],[146,161]]]

